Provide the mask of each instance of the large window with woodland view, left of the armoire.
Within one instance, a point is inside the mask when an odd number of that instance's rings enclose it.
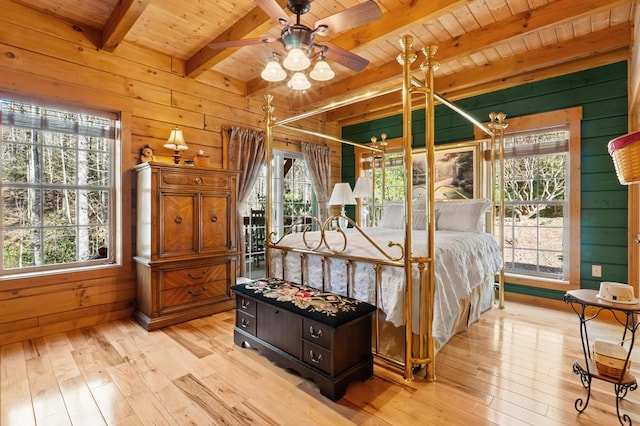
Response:
[[[2,273],[109,262],[116,117],[0,102]]]

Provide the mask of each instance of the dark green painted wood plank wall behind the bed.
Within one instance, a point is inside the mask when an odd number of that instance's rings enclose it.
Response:
[[[599,288],[600,281],[627,282],[627,187],[620,185],[607,152],[609,140],[627,132],[627,63],[525,84],[455,104],[486,121],[492,111],[509,117],[583,107],[581,141],[581,264],[582,288]],[[342,137],[366,142],[387,132],[401,136],[401,115],[342,128]],[[413,113],[414,146],[424,146],[424,112]],[[436,144],[473,140],[473,126],[443,105],[435,111]],[[343,148],[343,176],[354,175],[353,150]],[[602,278],[591,277],[591,265],[602,265]],[[507,285],[507,291],[560,300],[564,292]]]

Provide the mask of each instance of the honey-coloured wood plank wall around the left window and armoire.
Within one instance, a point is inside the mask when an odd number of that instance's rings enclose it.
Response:
[[[190,158],[203,150],[213,167],[223,167],[222,127],[263,129],[263,100],[247,99],[245,87],[217,75],[184,78],[184,61],[123,44],[114,53],[97,49],[99,33],[13,1],[0,14],[0,96],[38,99],[56,105],[106,109],[122,116],[118,264],[65,274],[0,276],[0,344],[129,317],[135,304],[135,188],[131,168],[140,148],[150,145],[159,161],[171,161],[162,147],[174,126],[185,135]],[[278,117],[294,115],[286,100],[274,102]],[[298,123],[337,136],[323,116]],[[275,132],[280,140],[299,134]],[[304,140],[318,142],[311,137]],[[287,149],[286,144],[280,146]],[[334,147],[334,180],[340,180]]]

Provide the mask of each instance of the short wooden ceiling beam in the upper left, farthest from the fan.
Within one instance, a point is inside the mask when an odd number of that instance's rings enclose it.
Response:
[[[104,24],[100,49],[113,53],[151,0],[121,0]]]

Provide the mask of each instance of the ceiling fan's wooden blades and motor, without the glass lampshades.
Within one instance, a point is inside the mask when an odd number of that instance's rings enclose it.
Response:
[[[287,52],[299,48],[308,58],[319,55],[320,60],[328,58],[356,72],[362,71],[369,64],[367,59],[338,46],[330,43],[316,43],[315,36],[339,33],[382,18],[382,11],[373,0],[360,3],[342,12],[320,19],[314,23],[313,29],[300,23],[300,16],[311,9],[310,0],[287,1],[287,9],[296,16],[295,23],[290,21],[287,13],[280,7],[276,0],[254,0],[254,2],[264,10],[271,19],[283,25],[280,37],[230,40],[210,43],[209,47],[212,49],[227,49],[280,41]],[[275,59],[276,55],[274,54],[274,60]]]

